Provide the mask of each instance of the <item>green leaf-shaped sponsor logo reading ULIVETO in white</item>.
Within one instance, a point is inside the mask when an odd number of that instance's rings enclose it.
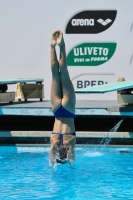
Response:
[[[67,56],[69,66],[97,66],[107,62],[116,50],[116,43],[83,43]]]

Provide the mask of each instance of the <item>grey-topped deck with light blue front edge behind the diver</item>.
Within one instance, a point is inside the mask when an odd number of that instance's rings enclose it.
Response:
[[[51,102],[43,101],[15,101],[10,103],[0,103],[1,116],[46,116],[54,117],[51,110]],[[75,117],[77,116],[116,116],[133,117],[132,105],[119,105],[116,100],[77,100]]]

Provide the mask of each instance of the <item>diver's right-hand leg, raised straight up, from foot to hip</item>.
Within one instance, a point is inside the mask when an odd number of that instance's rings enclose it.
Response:
[[[67,59],[66,59],[66,50],[65,43],[63,39],[63,34],[60,33],[60,43],[58,44],[60,47],[60,60],[59,60],[59,68],[61,73],[61,86],[62,86],[62,105],[69,110],[70,112],[75,112],[75,92],[73,84],[70,80],[69,73],[67,70]]]

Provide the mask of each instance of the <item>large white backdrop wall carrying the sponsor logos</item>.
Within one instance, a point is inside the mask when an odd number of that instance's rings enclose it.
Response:
[[[50,99],[51,34],[60,29],[75,89],[115,82],[119,76],[132,80],[132,8],[132,0],[1,0],[0,79],[44,78],[45,99]],[[76,96],[116,99],[115,92]]]

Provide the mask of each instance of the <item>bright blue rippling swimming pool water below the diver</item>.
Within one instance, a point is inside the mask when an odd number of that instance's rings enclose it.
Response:
[[[49,147],[0,151],[0,199],[133,199],[133,148],[79,146],[74,169],[51,169]]]

